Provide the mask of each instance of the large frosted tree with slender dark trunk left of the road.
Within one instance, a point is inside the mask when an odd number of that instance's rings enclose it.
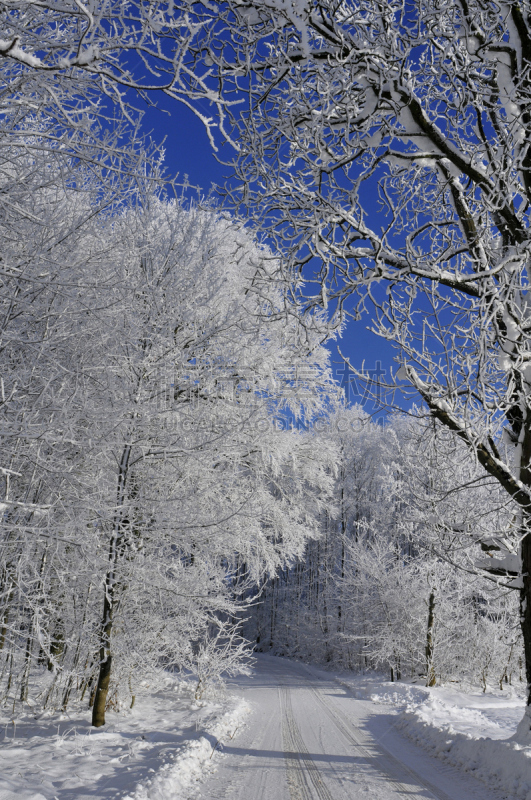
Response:
[[[109,548],[95,725],[115,613],[136,583],[122,573],[134,576],[138,551],[173,546],[194,562],[225,561],[229,574],[237,557],[253,581],[301,552],[329,459],[272,420],[301,402],[322,413],[334,389],[326,351],[299,341],[296,320],[261,320],[274,295],[260,300],[249,286],[267,253],[243,231],[156,200],[113,226],[117,305],[94,317],[107,367],[100,377],[94,365],[93,385]]]

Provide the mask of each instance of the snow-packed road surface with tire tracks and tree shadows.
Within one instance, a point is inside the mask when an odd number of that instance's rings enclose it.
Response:
[[[231,686],[254,708],[201,787],[204,800],[500,800],[427,755],[389,709],[359,700],[320,671],[259,656]]]

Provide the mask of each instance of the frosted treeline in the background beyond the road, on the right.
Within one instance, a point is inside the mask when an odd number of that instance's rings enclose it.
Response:
[[[330,419],[334,505],[264,587],[245,632],[271,651],[391,680],[525,680],[515,521],[464,447],[419,418]],[[509,566],[508,566],[509,565]]]

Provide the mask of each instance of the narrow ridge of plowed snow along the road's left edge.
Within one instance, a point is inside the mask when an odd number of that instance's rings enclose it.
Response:
[[[184,799],[185,791],[205,772],[212,771],[213,754],[222,749],[244,724],[250,711],[249,704],[242,699],[231,700],[233,707],[207,727],[204,736],[184,744],[172,755],[173,763],[164,764],[151,780],[138,784],[133,794],[124,795],[123,800]]]

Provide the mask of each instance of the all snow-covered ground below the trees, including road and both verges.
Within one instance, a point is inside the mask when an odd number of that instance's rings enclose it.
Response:
[[[36,713],[37,688],[17,720],[0,718],[0,800],[289,800],[321,784],[334,800],[407,787],[531,800],[520,686],[428,689],[260,656],[233,696],[197,704],[191,681],[167,676],[97,730],[86,710]]]

